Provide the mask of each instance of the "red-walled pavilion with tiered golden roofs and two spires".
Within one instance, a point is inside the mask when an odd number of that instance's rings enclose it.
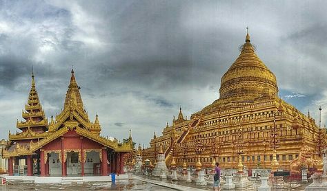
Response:
[[[63,110],[48,122],[32,73],[32,87],[22,112],[24,120],[17,120],[19,132],[9,132],[8,146],[2,153],[8,159],[9,175],[123,174],[123,155],[132,150],[131,135],[123,144],[102,137],[99,117],[90,122],[79,89],[72,70]]]

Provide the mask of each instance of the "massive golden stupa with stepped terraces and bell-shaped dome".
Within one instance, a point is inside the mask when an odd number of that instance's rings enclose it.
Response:
[[[255,53],[249,34],[240,51],[221,77],[220,98],[189,120],[180,109],[162,135],[151,139],[143,159],[155,164],[162,144],[168,166],[175,158],[177,166],[195,167],[199,159],[203,167],[219,161],[221,168],[237,168],[241,155],[249,169],[271,168],[275,153],[278,168],[290,170],[290,163],[306,148],[313,161],[308,167],[316,167],[321,146],[317,142],[326,139],[325,131],[310,113],[304,115],[279,98],[276,77]]]

